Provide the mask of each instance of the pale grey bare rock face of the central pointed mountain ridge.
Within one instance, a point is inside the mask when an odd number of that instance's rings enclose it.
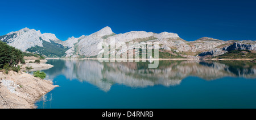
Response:
[[[108,38],[103,37],[108,35],[109,35]],[[170,38],[177,39],[179,38],[179,36],[177,34],[168,33],[168,32],[155,34],[153,32],[145,32],[145,31],[131,31],[131,32],[126,32],[125,34],[115,35],[110,27],[105,27],[102,30],[92,35],[86,36],[84,39],[80,40],[80,42],[77,43],[77,48],[79,50],[78,54],[83,56],[96,56],[102,50],[102,49],[98,49],[97,45],[101,42],[106,42],[110,44],[110,40],[113,38],[115,39],[115,43],[118,43],[118,42],[127,43],[127,42],[135,42],[137,40],[142,40],[142,42],[159,42],[163,39],[164,40],[168,40]],[[166,45],[166,47],[164,48],[167,50],[171,50],[171,48],[168,47],[168,45]]]

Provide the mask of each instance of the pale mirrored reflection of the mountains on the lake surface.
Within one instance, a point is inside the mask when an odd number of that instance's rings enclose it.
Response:
[[[250,61],[159,61],[159,67],[148,69],[150,63],[100,63],[97,60],[48,60],[55,67],[45,70],[47,79],[64,75],[69,80],[89,82],[108,92],[113,84],[133,88],[180,85],[188,76],[204,80],[222,77],[256,77],[256,64]]]

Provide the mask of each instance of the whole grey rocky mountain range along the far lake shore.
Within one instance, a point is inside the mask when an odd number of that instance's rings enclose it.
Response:
[[[115,42],[159,42],[159,57],[191,58],[216,57],[225,55],[230,51],[247,50],[255,58],[256,42],[251,40],[218,40],[213,38],[200,38],[192,42],[181,39],[179,35],[162,32],[131,31],[124,34],[115,34],[110,27],[102,28],[91,35],[82,35],[79,38],[71,37],[60,40],[54,34],[23,28],[16,32],[0,36],[2,42],[20,49],[23,52],[39,53],[46,57],[88,58],[96,57],[101,49],[97,49],[100,42],[110,43],[110,38]],[[133,48],[131,48],[133,49]],[[120,52],[119,49],[115,49]],[[246,54],[246,53],[245,53]]]

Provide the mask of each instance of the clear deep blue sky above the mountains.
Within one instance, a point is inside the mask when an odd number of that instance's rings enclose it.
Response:
[[[256,1],[1,0],[0,35],[28,27],[66,40],[105,26],[116,34],[175,32],[188,41],[256,40]]]

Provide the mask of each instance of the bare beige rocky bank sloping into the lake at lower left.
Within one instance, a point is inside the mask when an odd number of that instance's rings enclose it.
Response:
[[[35,109],[35,102],[57,87],[24,72],[0,72],[0,109]]]

